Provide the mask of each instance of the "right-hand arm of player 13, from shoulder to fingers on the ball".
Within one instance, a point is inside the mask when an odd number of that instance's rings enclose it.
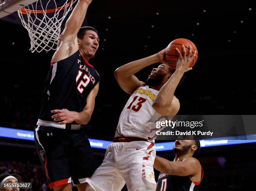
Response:
[[[195,58],[197,51],[193,56],[186,56],[186,50],[184,45],[182,45],[184,55],[182,55],[178,48],[176,48],[179,53],[179,60],[177,63],[177,69],[174,71],[169,80],[160,89],[156,99],[154,100],[153,108],[161,115],[176,115],[179,111],[179,100],[174,96],[175,89],[177,88],[179,81],[181,80],[183,74],[186,71],[191,70],[189,64]],[[189,46],[189,53],[191,55],[192,46]],[[162,52],[162,56],[165,54]]]

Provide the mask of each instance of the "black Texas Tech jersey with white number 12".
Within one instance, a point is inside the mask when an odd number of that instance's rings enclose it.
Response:
[[[39,119],[53,121],[51,110],[81,112],[87,104],[88,94],[99,81],[99,74],[79,51],[66,59],[51,63],[44,85]]]

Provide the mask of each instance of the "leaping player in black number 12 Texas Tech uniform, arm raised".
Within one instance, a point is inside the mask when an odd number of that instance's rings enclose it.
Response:
[[[99,47],[96,29],[82,27],[92,0],[78,0],[51,59],[35,142],[50,188],[84,191],[97,168],[84,133],[95,106],[100,76],[88,62]]]

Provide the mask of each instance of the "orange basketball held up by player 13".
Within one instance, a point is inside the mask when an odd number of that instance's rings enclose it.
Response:
[[[166,56],[167,63],[173,69],[176,69],[177,61],[179,59],[179,54],[177,53],[175,48],[179,48],[180,53],[183,55],[182,44],[184,44],[186,48],[186,55],[189,52],[189,45],[192,46],[191,56],[194,54],[195,51],[197,51],[197,47],[195,46],[195,44],[186,38],[178,38],[172,41],[171,43],[169,43],[165,51],[165,56]],[[197,61],[197,57],[198,57],[198,51],[197,51],[197,55],[195,56],[195,59],[190,63],[189,67],[193,67],[195,65]]]

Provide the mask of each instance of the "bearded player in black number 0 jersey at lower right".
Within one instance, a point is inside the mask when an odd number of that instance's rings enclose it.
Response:
[[[156,191],[197,191],[204,172],[200,162],[192,156],[199,150],[199,140],[178,137],[173,148],[174,161],[156,156],[154,168],[160,171]]]

